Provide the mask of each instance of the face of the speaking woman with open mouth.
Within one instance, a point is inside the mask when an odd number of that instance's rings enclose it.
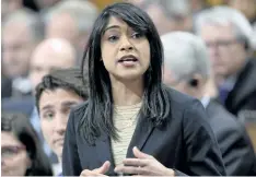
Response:
[[[110,79],[142,79],[150,64],[150,45],[143,34],[112,16],[102,37],[102,60]]]

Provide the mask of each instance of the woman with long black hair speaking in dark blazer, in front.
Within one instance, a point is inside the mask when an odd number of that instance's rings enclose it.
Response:
[[[202,105],[162,84],[163,58],[146,12],[125,2],[103,10],[83,58],[90,97],[70,113],[63,176],[225,175]]]

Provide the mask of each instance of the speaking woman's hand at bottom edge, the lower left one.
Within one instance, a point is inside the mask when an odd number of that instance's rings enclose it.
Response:
[[[83,172],[80,174],[80,177],[84,177],[84,176],[106,176],[104,175],[105,173],[107,173],[107,170],[110,167],[110,163],[109,161],[106,161],[100,168],[95,168],[93,170],[89,170],[89,169],[83,169]]]

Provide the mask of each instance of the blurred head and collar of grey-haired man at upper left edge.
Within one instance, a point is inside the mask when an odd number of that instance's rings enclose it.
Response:
[[[4,19],[2,74],[11,81],[9,82],[11,91],[9,95],[4,95],[5,97],[22,97],[31,93],[31,84],[27,79],[31,54],[43,38],[43,22],[31,10],[21,9]]]

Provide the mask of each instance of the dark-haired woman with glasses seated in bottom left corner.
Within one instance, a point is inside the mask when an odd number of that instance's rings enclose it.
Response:
[[[53,176],[36,132],[23,114],[1,115],[1,175]]]

